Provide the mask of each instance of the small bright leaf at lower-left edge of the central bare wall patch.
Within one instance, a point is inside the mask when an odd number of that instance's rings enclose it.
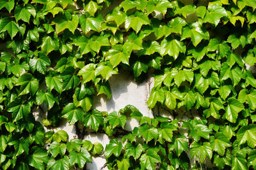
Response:
[[[122,128],[124,128],[124,125],[126,123],[126,116],[121,115],[119,112],[111,112],[106,118],[105,121],[109,121],[109,125],[111,125],[112,128],[117,127],[120,125]]]

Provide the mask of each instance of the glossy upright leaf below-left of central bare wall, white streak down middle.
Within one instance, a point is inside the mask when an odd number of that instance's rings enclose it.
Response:
[[[99,126],[103,123],[102,113],[93,109],[92,112],[86,112],[84,117],[84,125],[91,127],[95,132],[98,131]]]

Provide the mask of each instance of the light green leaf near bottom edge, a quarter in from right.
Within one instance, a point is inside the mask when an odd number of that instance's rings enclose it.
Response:
[[[201,163],[204,162],[205,158],[212,158],[212,147],[210,143],[205,142],[200,145],[196,142],[191,144],[191,157],[197,157]]]

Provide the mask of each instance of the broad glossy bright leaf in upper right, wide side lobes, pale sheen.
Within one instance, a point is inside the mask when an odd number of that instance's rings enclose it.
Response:
[[[181,40],[186,38],[191,38],[193,45],[196,47],[203,39],[209,40],[209,33],[204,27],[200,27],[198,22],[194,22],[191,26],[182,28]]]

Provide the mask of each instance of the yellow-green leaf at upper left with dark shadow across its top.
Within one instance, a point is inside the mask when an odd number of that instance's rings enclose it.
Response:
[[[54,24],[56,24],[56,33],[60,33],[65,29],[68,29],[73,34],[76,31],[79,18],[77,15],[71,15],[69,12],[65,12],[63,15],[58,15],[53,20]]]

